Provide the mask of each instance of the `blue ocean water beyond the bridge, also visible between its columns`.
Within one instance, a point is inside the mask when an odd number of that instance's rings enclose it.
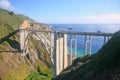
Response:
[[[120,30],[120,24],[50,24],[53,30],[80,31],[80,32],[104,32],[115,33]],[[72,30],[69,30],[72,28]],[[74,35],[71,35],[74,38]],[[104,38],[92,36],[91,53],[96,53],[103,46]],[[70,52],[70,35],[67,36],[68,51]],[[84,55],[84,36],[77,35],[77,55]],[[72,52],[74,53],[74,41],[72,42]]]

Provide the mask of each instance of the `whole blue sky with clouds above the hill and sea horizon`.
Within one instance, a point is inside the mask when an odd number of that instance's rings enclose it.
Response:
[[[0,8],[42,23],[120,23],[120,0],[0,0]]]

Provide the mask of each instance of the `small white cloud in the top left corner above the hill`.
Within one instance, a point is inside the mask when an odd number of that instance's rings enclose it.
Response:
[[[9,10],[15,9],[15,7],[12,6],[9,0],[0,0],[0,7],[9,9]]]

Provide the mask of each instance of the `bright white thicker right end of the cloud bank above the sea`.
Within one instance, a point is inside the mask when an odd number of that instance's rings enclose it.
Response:
[[[84,16],[81,18],[86,22],[95,23],[120,23],[120,14],[102,14],[95,16]]]

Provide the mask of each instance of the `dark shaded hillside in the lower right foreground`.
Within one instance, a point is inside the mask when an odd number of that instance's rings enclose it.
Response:
[[[97,54],[76,59],[55,80],[120,80],[120,31]]]

